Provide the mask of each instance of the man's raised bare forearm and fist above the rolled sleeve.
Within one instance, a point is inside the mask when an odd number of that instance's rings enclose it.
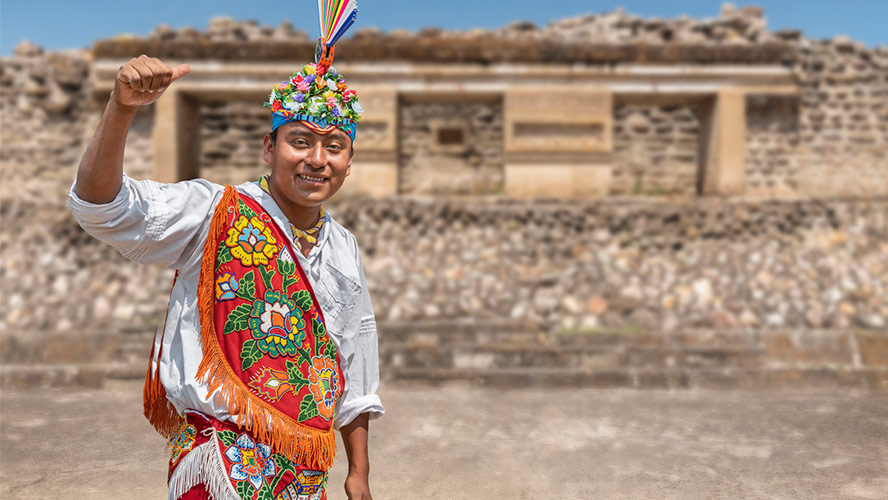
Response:
[[[108,106],[77,170],[75,193],[80,199],[95,204],[114,199],[123,181],[123,150],[136,111],[156,101],[172,82],[190,71],[187,64],[170,69],[145,55],[120,67]]]

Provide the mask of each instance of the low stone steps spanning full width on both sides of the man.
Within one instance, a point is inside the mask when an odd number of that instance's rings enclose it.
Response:
[[[384,381],[503,388],[888,390],[888,332],[635,330],[552,333],[514,321],[379,325]],[[3,387],[101,387],[142,379],[153,332],[0,335]]]

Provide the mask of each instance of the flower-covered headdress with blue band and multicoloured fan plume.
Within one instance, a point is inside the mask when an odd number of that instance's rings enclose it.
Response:
[[[364,109],[358,94],[348,88],[345,78],[331,64],[333,45],[358,16],[357,1],[318,0],[318,11],[321,37],[315,48],[315,62],[306,64],[272,89],[265,103],[273,112],[271,129],[301,121],[321,134],[342,129],[354,141]]]

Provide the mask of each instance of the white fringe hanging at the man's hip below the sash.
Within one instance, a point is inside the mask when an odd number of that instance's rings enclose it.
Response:
[[[170,477],[169,500],[179,500],[191,488],[203,484],[213,500],[241,500],[222,461],[216,430],[206,442],[191,450]]]

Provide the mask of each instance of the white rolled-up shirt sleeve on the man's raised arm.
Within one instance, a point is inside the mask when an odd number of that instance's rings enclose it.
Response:
[[[164,184],[123,177],[120,191],[105,204],[80,199],[71,187],[67,207],[87,233],[141,264],[180,267],[200,251],[198,235],[222,186],[202,179]]]

